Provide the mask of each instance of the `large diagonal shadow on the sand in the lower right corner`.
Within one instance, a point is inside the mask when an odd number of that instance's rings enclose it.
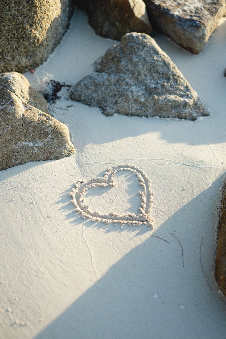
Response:
[[[35,338],[188,338],[194,333],[197,338],[225,338],[225,313],[212,277],[216,223],[212,201],[219,200],[220,182],[221,178],[215,180],[158,228],[155,235],[171,244],[150,236]],[[184,267],[178,241],[169,232],[183,245]],[[202,265],[213,291],[200,268],[202,236],[206,239]]]

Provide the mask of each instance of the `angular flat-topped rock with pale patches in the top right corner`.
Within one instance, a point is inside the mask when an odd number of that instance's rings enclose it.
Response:
[[[226,13],[225,0],[144,0],[153,27],[192,53],[200,53]]]

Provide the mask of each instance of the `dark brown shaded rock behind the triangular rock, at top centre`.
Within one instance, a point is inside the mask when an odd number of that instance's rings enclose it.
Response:
[[[151,26],[142,0],[77,0],[77,6],[89,16],[96,33],[120,40],[130,32],[151,34]]]

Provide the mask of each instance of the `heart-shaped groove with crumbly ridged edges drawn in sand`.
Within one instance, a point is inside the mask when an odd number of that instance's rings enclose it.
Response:
[[[140,214],[126,213],[123,215],[111,212],[109,214],[100,214],[98,211],[89,211],[89,206],[85,204],[85,193],[89,188],[96,186],[107,187],[116,186],[115,174],[119,171],[130,171],[134,173],[139,181],[142,191],[138,192],[141,203],[139,207]],[[93,221],[102,221],[110,224],[111,222],[118,222],[120,224],[132,224],[140,226],[142,224],[148,224],[153,228],[153,219],[151,218],[151,205],[152,205],[153,192],[150,189],[150,180],[145,173],[135,167],[134,165],[118,165],[115,167],[107,168],[107,172],[103,177],[95,177],[88,181],[78,181],[75,184],[75,188],[70,192],[72,198],[71,202],[75,205],[76,210],[82,215],[83,218],[90,218]]]

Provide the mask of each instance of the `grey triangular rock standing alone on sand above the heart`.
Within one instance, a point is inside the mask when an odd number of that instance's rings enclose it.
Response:
[[[100,107],[107,116],[195,120],[209,115],[182,73],[146,34],[124,35],[95,62],[95,71],[71,89],[70,98]]]

